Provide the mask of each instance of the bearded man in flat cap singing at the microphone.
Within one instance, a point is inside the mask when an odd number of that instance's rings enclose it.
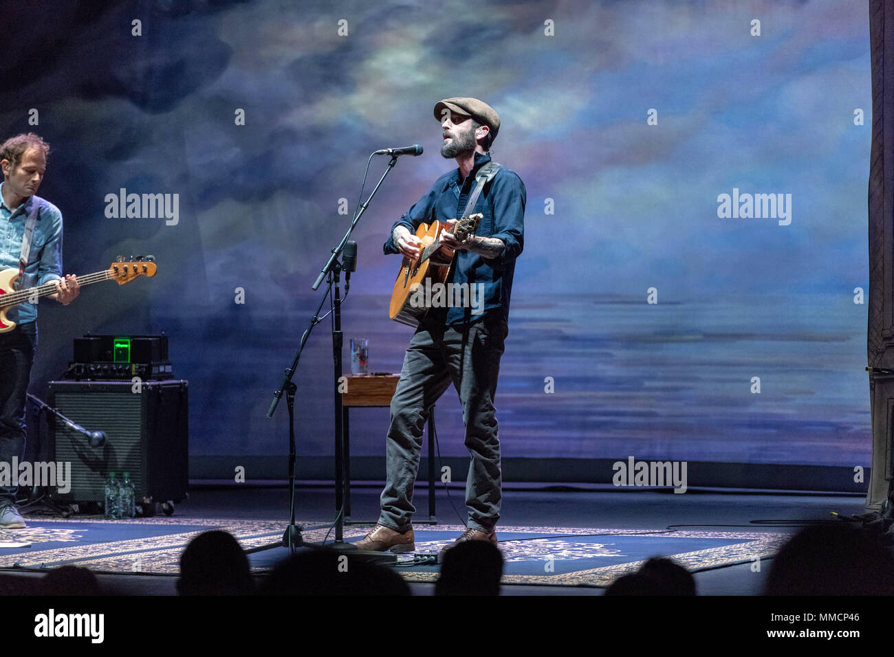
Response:
[[[509,333],[512,274],[523,246],[526,190],[518,175],[505,166],[489,164],[488,151],[500,130],[500,117],[493,107],[477,98],[447,98],[434,105],[434,118],[443,131],[441,155],[455,158],[459,169],[434,181],[425,196],[394,223],[384,252],[416,258],[422,247],[415,234],[420,223],[452,224],[456,217],[481,213],[475,235],[460,242],[445,232],[442,243],[456,251],[448,282],[467,283],[468,289],[480,286],[484,313],[474,315],[469,305],[431,307],[409,341],[391,402],[382,513],[375,528],[356,543],[365,550],[415,551],[411,501],[423,427],[434,402],[451,383],[460,395],[471,456],[466,482],[468,529],[452,545],[497,541],[494,526],[500,518],[502,476],[493,396],[503,341]],[[477,178],[486,180],[484,187],[478,186]]]

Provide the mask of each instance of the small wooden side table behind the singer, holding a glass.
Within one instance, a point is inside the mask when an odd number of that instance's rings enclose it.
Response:
[[[368,525],[368,520],[350,518],[350,431],[348,411],[352,408],[391,408],[394,391],[401,375],[344,375],[347,392],[342,392],[342,432],[344,440],[344,524]],[[437,525],[434,515],[434,482],[437,470],[434,467],[434,405],[428,414],[428,520],[413,519],[421,525]]]

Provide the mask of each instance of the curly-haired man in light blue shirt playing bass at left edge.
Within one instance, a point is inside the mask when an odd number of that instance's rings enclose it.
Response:
[[[21,272],[18,289],[56,281],[49,296],[67,306],[79,293],[78,279],[62,278],[62,214],[35,196],[46,173],[49,146],[29,133],[7,139],[0,147],[0,270]],[[0,462],[12,467],[25,446],[25,400],[38,343],[38,307],[22,303],[8,312],[16,323],[0,333]],[[15,486],[0,486],[0,529],[20,529],[24,520],[15,508]]]

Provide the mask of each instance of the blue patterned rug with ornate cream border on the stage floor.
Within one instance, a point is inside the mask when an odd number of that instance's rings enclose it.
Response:
[[[234,535],[245,549],[276,543],[285,530],[280,520],[209,518],[29,518],[28,528],[0,530],[0,568],[56,568],[76,565],[103,573],[176,575],[181,552],[195,536],[211,529]],[[356,541],[370,526],[346,526],[344,539]],[[307,543],[320,543],[329,525],[305,523]],[[465,527],[414,526],[417,553],[438,552]],[[331,543],[334,531],[329,533]],[[690,571],[772,557],[788,534],[743,531],[686,531],[604,527],[498,526],[506,565],[504,584],[607,586],[633,572],[650,557],[671,557]],[[272,569],[288,552],[283,547],[249,555],[256,572]],[[434,582],[437,566],[411,566],[400,555],[397,571],[409,582]]]

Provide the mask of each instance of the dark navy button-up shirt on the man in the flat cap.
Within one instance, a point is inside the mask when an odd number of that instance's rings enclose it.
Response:
[[[475,165],[465,181],[460,177],[459,168],[444,173],[434,181],[425,196],[394,222],[388,240],[384,243],[385,254],[400,253],[393,242],[394,229],[399,225],[406,226],[409,232],[416,234],[420,223],[432,223],[435,219],[446,222],[448,219],[460,218],[469,195],[475,189],[475,174],[490,161],[489,154],[476,153]],[[502,316],[505,321],[509,320],[515,259],[524,246],[526,200],[525,183],[515,172],[501,165],[493,180],[485,185],[476,206],[469,214],[480,212],[484,215],[478,224],[477,236],[498,238],[506,245],[506,249],[502,257],[497,258],[485,258],[466,250],[457,251],[448,279],[448,282],[453,283],[484,283],[484,313],[473,315],[470,307],[450,307],[446,311],[445,324],[468,324],[484,316],[494,315]],[[436,316],[440,318],[442,314],[443,311]],[[429,316],[432,315],[430,312]]]

